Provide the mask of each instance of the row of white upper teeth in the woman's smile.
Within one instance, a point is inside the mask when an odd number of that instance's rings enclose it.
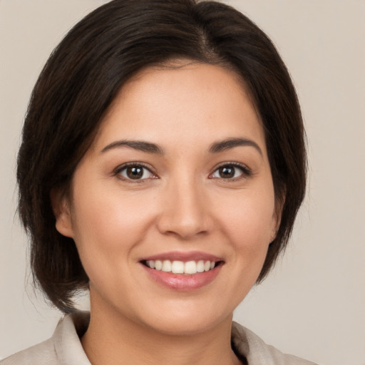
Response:
[[[196,274],[197,272],[205,272],[215,268],[215,262],[199,260],[195,261],[170,261],[165,259],[160,261],[159,259],[150,259],[146,261],[146,264],[151,269],[162,270],[163,272],[173,272],[173,274]]]

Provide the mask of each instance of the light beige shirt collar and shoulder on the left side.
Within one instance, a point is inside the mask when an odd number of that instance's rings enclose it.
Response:
[[[60,319],[51,339],[17,352],[0,365],[91,365],[80,337],[88,327],[88,312],[76,312]]]

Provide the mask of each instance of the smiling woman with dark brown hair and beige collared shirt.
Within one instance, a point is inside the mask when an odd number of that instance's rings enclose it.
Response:
[[[249,19],[214,1],[93,11],[46,63],[18,161],[34,277],[68,315],[1,364],[310,364],[232,324],[305,172],[294,87]]]

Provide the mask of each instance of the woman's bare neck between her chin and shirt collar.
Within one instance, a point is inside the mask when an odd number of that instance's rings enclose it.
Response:
[[[171,335],[91,306],[81,343],[93,365],[237,365],[241,363],[230,346],[231,325],[232,317],[207,331]]]

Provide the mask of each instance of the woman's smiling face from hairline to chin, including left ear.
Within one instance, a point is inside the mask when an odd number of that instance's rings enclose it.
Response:
[[[199,63],[141,71],[58,210],[92,312],[168,334],[230,321],[278,222],[264,131],[242,83]]]

